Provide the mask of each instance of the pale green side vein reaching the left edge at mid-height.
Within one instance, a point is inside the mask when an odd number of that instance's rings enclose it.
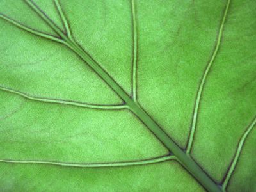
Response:
[[[26,99],[30,100],[36,100],[39,102],[48,102],[48,103],[56,103],[56,104],[66,104],[70,106],[78,106],[82,108],[92,108],[92,109],[127,109],[125,105],[98,105],[98,104],[86,104],[83,102],[75,102],[71,100],[60,100],[60,99],[50,99],[50,98],[43,98],[43,97],[36,97],[33,95],[29,95],[27,93],[19,92],[17,90],[12,90],[10,88],[5,88],[3,86],[0,86],[0,90],[14,93],[16,95],[20,95],[22,97],[25,97]]]

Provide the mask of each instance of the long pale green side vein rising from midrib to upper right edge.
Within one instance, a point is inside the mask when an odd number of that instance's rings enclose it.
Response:
[[[214,59],[216,58],[216,55],[217,55],[218,50],[220,48],[221,37],[222,37],[223,28],[224,28],[225,20],[226,20],[226,17],[227,17],[227,12],[228,12],[229,5],[230,5],[230,0],[227,0],[227,5],[226,5],[226,8],[225,8],[225,12],[223,14],[223,19],[221,21],[220,30],[218,32],[218,38],[217,38],[217,42],[216,42],[216,45],[215,45],[215,48],[214,48],[214,52],[212,54],[211,60],[209,61],[207,67],[205,68],[204,75],[202,77],[202,80],[200,82],[200,86],[198,88],[198,92],[197,92],[197,95],[196,95],[196,102],[195,102],[195,108],[194,108],[194,111],[193,111],[193,120],[192,120],[192,124],[191,124],[191,131],[190,131],[190,134],[189,134],[188,145],[186,147],[186,153],[187,154],[190,154],[191,147],[193,145],[193,140],[194,140],[194,136],[195,136],[195,129],[196,129],[196,122],[197,122],[197,118],[198,118],[198,109],[199,109],[200,100],[201,100],[201,97],[202,97],[202,92],[204,90],[205,80],[207,79],[209,71],[211,70],[211,67],[212,67],[212,63],[213,63]]]

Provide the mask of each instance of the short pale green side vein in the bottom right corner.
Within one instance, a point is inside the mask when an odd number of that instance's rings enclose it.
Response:
[[[239,140],[238,146],[237,146],[237,150],[236,150],[236,154],[234,156],[234,159],[230,165],[230,168],[227,172],[227,176],[225,177],[225,180],[223,181],[223,191],[226,191],[227,188],[227,184],[230,180],[230,177],[232,176],[232,173],[234,172],[235,168],[236,168],[236,164],[237,161],[239,159],[239,156],[241,155],[241,151],[244,145],[244,142],[246,140],[246,138],[248,137],[248,134],[252,131],[253,127],[256,125],[256,117],[253,119],[252,123],[247,127],[246,131],[244,132],[243,136],[241,137],[241,139]]]

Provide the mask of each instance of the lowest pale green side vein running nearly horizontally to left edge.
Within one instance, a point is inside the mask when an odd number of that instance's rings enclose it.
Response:
[[[146,159],[141,161],[129,161],[129,162],[114,162],[114,163],[90,163],[90,164],[79,164],[79,163],[61,163],[54,161],[26,161],[26,160],[8,160],[0,159],[0,162],[4,163],[23,163],[23,164],[52,164],[57,166],[72,166],[72,167],[84,167],[84,168],[100,168],[100,167],[114,167],[114,166],[136,166],[143,164],[161,163],[164,161],[174,160],[174,156],[156,157],[154,159]]]

